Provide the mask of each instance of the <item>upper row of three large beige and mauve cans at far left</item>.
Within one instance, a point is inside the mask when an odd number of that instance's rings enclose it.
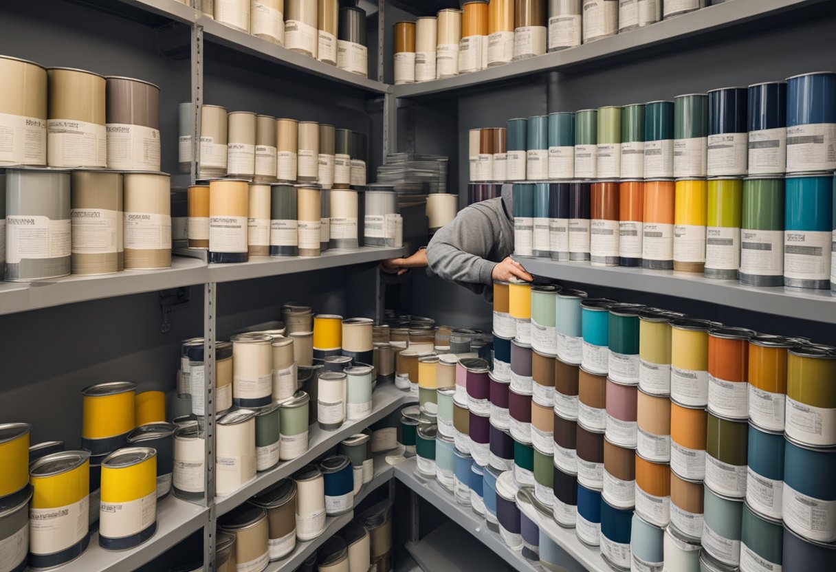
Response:
[[[11,133],[0,164],[160,171],[160,88],[0,56]]]

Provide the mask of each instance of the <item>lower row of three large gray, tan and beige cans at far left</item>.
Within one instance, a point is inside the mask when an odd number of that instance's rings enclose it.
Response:
[[[15,167],[4,185],[7,280],[171,266],[165,173]]]

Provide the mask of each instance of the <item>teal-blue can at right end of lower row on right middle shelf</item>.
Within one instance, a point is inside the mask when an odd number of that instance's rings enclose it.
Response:
[[[784,191],[784,285],[829,289],[833,176],[788,176]]]

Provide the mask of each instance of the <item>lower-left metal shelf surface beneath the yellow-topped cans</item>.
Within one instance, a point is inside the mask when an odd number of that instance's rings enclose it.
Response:
[[[99,546],[98,533],[91,534],[84,554],[61,566],[61,572],[124,572],[137,569],[208,524],[208,508],[187,503],[171,493],[157,503],[157,529],[150,539],[135,548],[114,552]]]

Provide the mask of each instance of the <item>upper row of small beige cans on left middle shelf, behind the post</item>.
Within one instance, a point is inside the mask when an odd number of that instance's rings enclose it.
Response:
[[[194,156],[194,105],[181,103],[178,112],[179,163],[187,172]],[[366,184],[363,133],[315,121],[227,113],[220,105],[201,105],[200,113],[199,180],[230,176],[263,183],[319,182],[325,189]]]

